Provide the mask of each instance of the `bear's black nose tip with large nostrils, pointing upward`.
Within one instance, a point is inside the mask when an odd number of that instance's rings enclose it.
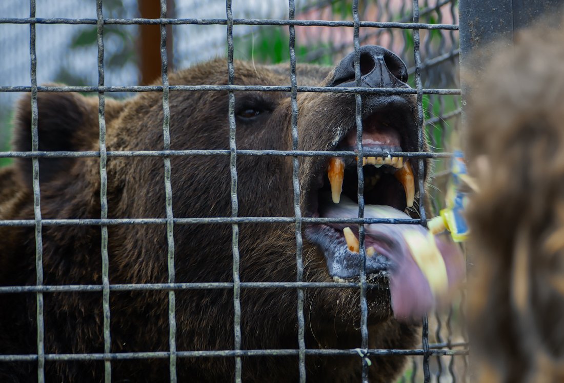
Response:
[[[360,86],[363,87],[408,87],[406,64],[389,50],[377,45],[360,47],[360,76]],[[333,78],[329,86],[356,86],[354,52],[341,60]]]

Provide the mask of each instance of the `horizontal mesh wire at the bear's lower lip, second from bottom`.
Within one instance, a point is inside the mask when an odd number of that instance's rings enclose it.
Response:
[[[241,282],[241,288],[246,289],[358,289],[354,282]],[[372,286],[369,284],[369,286]],[[102,291],[103,285],[29,285],[29,286],[0,286],[0,294],[15,293],[90,293]],[[153,290],[201,290],[201,289],[232,289],[232,282],[193,282],[193,283],[135,283],[111,284],[110,291],[153,291]]]

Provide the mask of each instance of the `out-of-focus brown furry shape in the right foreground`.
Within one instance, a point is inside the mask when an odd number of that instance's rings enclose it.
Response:
[[[469,312],[481,382],[564,381],[562,41],[562,30],[521,32],[479,81],[467,76],[467,149],[481,190],[468,214]]]

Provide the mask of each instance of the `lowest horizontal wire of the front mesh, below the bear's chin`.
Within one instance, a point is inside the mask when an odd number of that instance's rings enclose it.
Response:
[[[211,358],[233,356],[292,356],[298,355],[299,350],[206,350],[206,351],[177,351],[178,358]],[[384,355],[424,355],[422,349],[306,349],[307,355],[319,356],[384,356]],[[428,351],[429,355],[468,355],[468,350],[442,350]],[[169,358],[168,351],[142,352],[142,353],[92,353],[92,354],[45,354],[45,360],[70,362],[73,360],[124,360],[124,359],[164,359]],[[0,362],[33,362],[37,355],[0,355]]]

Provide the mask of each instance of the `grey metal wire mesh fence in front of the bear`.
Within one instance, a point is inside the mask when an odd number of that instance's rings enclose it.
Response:
[[[412,1],[412,18],[401,19],[399,21],[360,21],[359,19],[359,2],[355,0],[352,4],[352,21],[339,20],[298,20],[296,19],[296,4],[294,0],[289,0],[288,19],[234,19],[232,14],[231,0],[226,1],[226,18],[225,19],[170,19],[167,18],[166,0],[160,0],[161,15],[160,19],[107,19],[103,15],[103,0],[96,0],[96,19],[63,19],[50,18],[39,19],[36,17],[36,0],[30,0],[30,14],[25,18],[0,17],[1,24],[28,24],[30,30],[30,86],[0,86],[0,92],[28,92],[31,94],[32,106],[32,151],[5,151],[0,152],[2,158],[31,158],[33,169],[33,198],[34,198],[34,219],[11,219],[0,220],[0,226],[32,226],[35,228],[36,241],[36,278],[37,283],[34,286],[0,286],[1,294],[13,293],[35,293],[37,300],[37,354],[27,355],[0,355],[0,363],[14,361],[37,361],[37,377],[39,382],[45,381],[45,362],[46,361],[70,361],[70,360],[103,360],[104,361],[104,377],[105,382],[112,381],[112,361],[120,359],[143,359],[157,358],[169,360],[170,381],[177,381],[177,359],[178,358],[197,358],[197,357],[223,357],[233,358],[235,361],[235,381],[240,382],[241,372],[244,365],[241,358],[244,356],[280,356],[280,355],[297,355],[299,368],[299,381],[306,381],[306,355],[358,355],[359,363],[362,363],[362,381],[368,382],[369,359],[367,356],[374,355],[412,355],[422,358],[422,363],[413,359],[413,371],[411,372],[411,380],[416,381],[420,378],[416,369],[422,366],[422,378],[425,382],[429,382],[434,378],[436,381],[443,381],[443,364],[445,356],[450,356],[450,381],[456,381],[457,377],[462,381],[466,381],[466,371],[457,375],[453,371],[454,356],[461,355],[463,358],[468,354],[466,349],[466,341],[460,342],[443,339],[443,322],[446,320],[448,333],[451,333],[451,320],[453,316],[453,307],[451,307],[447,316],[435,314],[430,319],[435,326],[434,342],[429,340],[429,318],[422,318],[422,332],[420,347],[412,350],[400,349],[369,349],[368,347],[368,305],[366,292],[369,287],[365,267],[362,268],[359,283],[312,283],[303,281],[303,259],[302,259],[302,224],[303,223],[349,223],[358,224],[360,254],[366,259],[364,248],[364,225],[370,223],[411,223],[426,224],[426,212],[424,205],[419,208],[420,218],[418,219],[383,219],[383,218],[364,218],[364,175],[362,171],[363,157],[378,156],[381,152],[371,152],[365,150],[362,144],[362,99],[364,94],[414,94],[417,97],[418,108],[418,148],[416,152],[386,152],[386,155],[406,157],[417,159],[418,164],[418,190],[420,190],[420,200],[425,199],[424,179],[421,177],[425,171],[425,159],[450,159],[450,152],[428,152],[425,151],[425,128],[433,129],[435,125],[440,125],[442,121],[448,118],[457,117],[460,114],[460,107],[450,112],[444,113],[444,103],[439,95],[457,96],[460,94],[459,89],[443,89],[441,87],[424,87],[421,78],[422,69],[440,65],[447,60],[452,60],[458,55],[458,50],[451,47],[450,50],[434,58],[422,60],[420,45],[420,30],[430,32],[432,30],[447,30],[451,33],[458,29],[456,24],[442,24],[440,20],[437,23],[421,23],[421,13],[429,12],[446,4],[451,4],[451,12],[455,12],[453,1],[446,0],[437,2],[434,6],[425,7],[420,10],[418,0]],[[380,6],[380,3],[378,3]],[[96,25],[98,30],[96,41],[98,47],[98,85],[97,86],[38,86],[37,84],[37,58],[36,58],[36,25],[37,24],[92,24]],[[104,85],[104,27],[105,25],[129,25],[129,24],[156,24],[160,25],[161,32],[161,63],[162,63],[162,86],[105,86]],[[169,85],[168,79],[168,53],[166,50],[166,25],[226,25],[227,27],[227,67],[228,82],[226,86],[221,85]],[[259,86],[259,85],[234,85],[235,68],[233,66],[234,42],[233,42],[233,25],[278,25],[287,27],[289,30],[289,59],[290,59],[290,86]],[[354,68],[355,68],[355,86],[354,87],[319,87],[319,86],[299,86],[296,78],[296,30],[299,27],[348,27],[353,31],[354,42]],[[413,66],[409,68],[409,72],[415,74],[415,87],[413,89],[390,89],[390,88],[365,88],[360,86],[360,43],[369,41],[371,34],[365,34],[360,37],[360,29],[367,28],[374,30],[374,35],[381,35],[390,30],[411,30],[413,39]],[[392,37],[393,38],[393,37]],[[451,36],[452,38],[452,36]],[[430,38],[427,40],[430,44]],[[344,49],[346,46],[338,47]],[[310,58],[320,55],[321,50],[309,53]],[[428,78],[428,83],[434,79]],[[444,83],[444,82],[443,82]],[[98,93],[98,124],[99,124],[99,150],[98,151],[39,151],[38,146],[38,103],[37,95],[39,92],[61,93],[68,91],[76,92],[96,92]],[[159,151],[107,151],[106,126],[105,126],[105,94],[114,92],[160,92],[162,93],[162,137],[163,149]],[[169,94],[175,91],[227,91],[228,94],[228,122],[229,122],[229,149],[228,150],[171,150],[170,138],[170,108]],[[236,120],[235,120],[235,92],[238,91],[285,91],[291,94],[292,99],[292,150],[276,151],[276,150],[241,150],[236,145]],[[300,151],[298,150],[298,104],[297,96],[300,92],[318,92],[318,93],[351,93],[355,95],[356,109],[356,151],[333,152],[333,151]],[[424,105],[424,97],[435,97],[427,101]],[[434,102],[433,102],[434,101]],[[429,105],[439,105],[438,112],[435,116],[430,116],[425,120],[424,107]],[[444,129],[436,128],[438,135],[444,134]],[[431,145],[437,147],[437,134],[429,133]],[[442,137],[442,142],[446,140]],[[171,157],[184,156],[228,156],[230,159],[230,175],[231,175],[231,217],[222,218],[178,218],[173,213],[173,195],[171,187]],[[240,217],[238,211],[238,194],[237,194],[237,158],[239,156],[284,156],[292,157],[293,171],[293,217]],[[320,218],[320,217],[302,217],[300,202],[300,184],[298,179],[299,158],[312,156],[340,156],[340,157],[356,157],[358,171],[358,201],[359,212],[358,218]],[[100,219],[43,219],[41,215],[41,193],[39,191],[39,159],[40,158],[77,158],[77,157],[96,157],[99,158],[99,177],[100,177]],[[111,157],[159,157],[164,162],[164,182],[166,192],[166,218],[108,218],[108,202],[107,202],[107,159]],[[295,282],[244,282],[240,280],[239,272],[239,224],[240,223],[293,223],[295,226],[294,235],[296,237],[296,265],[297,279]],[[223,223],[230,224],[232,227],[232,282],[210,282],[210,283],[176,283],[175,281],[175,243],[174,243],[174,227],[182,224],[211,224]],[[108,226],[113,225],[151,225],[165,224],[168,239],[168,283],[143,283],[143,284],[110,284],[109,283],[109,257],[108,257]],[[43,244],[42,244],[42,228],[46,226],[90,226],[96,225],[100,227],[102,233],[102,284],[90,285],[44,285],[43,284]],[[297,294],[297,327],[298,327],[298,349],[271,349],[271,350],[245,350],[241,348],[241,290],[242,289],[268,289],[283,288],[294,290]],[[362,342],[358,349],[307,349],[305,342],[305,318],[304,318],[304,292],[308,288],[349,288],[360,290],[360,333],[362,334]],[[233,337],[234,347],[232,350],[209,350],[209,351],[178,351],[177,350],[177,333],[175,318],[175,292],[186,289],[232,289],[233,291]],[[164,290],[168,292],[169,301],[169,351],[155,352],[136,352],[136,353],[112,353],[111,350],[111,332],[110,332],[110,301],[109,297],[112,292],[120,291],[145,291],[145,290]],[[45,353],[45,327],[43,318],[43,293],[51,292],[102,292],[103,305],[103,353],[83,353],[83,354],[46,354]],[[464,296],[462,297],[464,299]],[[462,305],[461,305],[462,306]],[[462,315],[463,313],[461,313]],[[454,347],[459,347],[454,349]],[[430,364],[431,357],[436,358],[436,369],[434,376],[431,376]],[[465,358],[464,358],[464,363]],[[401,378],[406,381],[406,376]]]

